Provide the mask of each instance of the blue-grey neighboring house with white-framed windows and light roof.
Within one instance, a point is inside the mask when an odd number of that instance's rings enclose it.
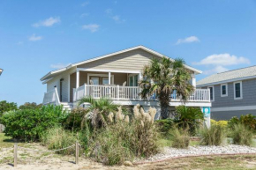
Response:
[[[198,81],[197,88],[210,90],[212,119],[256,115],[256,66],[212,75]]]

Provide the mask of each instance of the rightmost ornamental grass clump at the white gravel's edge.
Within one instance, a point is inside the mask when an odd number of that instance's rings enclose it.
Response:
[[[230,137],[233,139],[233,144],[252,145],[252,130],[242,123],[234,125],[230,131]]]

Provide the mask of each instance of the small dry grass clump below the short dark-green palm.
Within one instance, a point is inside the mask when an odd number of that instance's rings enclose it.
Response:
[[[174,148],[187,148],[190,144],[190,136],[188,129],[171,129],[169,131],[172,144],[171,146]]]

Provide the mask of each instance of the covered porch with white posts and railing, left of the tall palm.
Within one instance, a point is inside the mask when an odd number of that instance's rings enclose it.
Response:
[[[70,75],[70,102],[82,97],[138,100],[141,73],[132,70],[88,70],[78,68]]]

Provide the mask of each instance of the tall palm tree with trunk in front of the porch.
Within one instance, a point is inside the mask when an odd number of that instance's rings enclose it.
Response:
[[[155,95],[160,100],[162,119],[168,118],[170,94],[176,91],[184,102],[194,91],[189,83],[192,73],[184,68],[184,60],[177,58],[174,62],[163,57],[162,60],[153,58],[143,69],[143,80],[139,82],[142,91],[140,96],[147,99]],[[156,97],[155,96],[155,97]]]

